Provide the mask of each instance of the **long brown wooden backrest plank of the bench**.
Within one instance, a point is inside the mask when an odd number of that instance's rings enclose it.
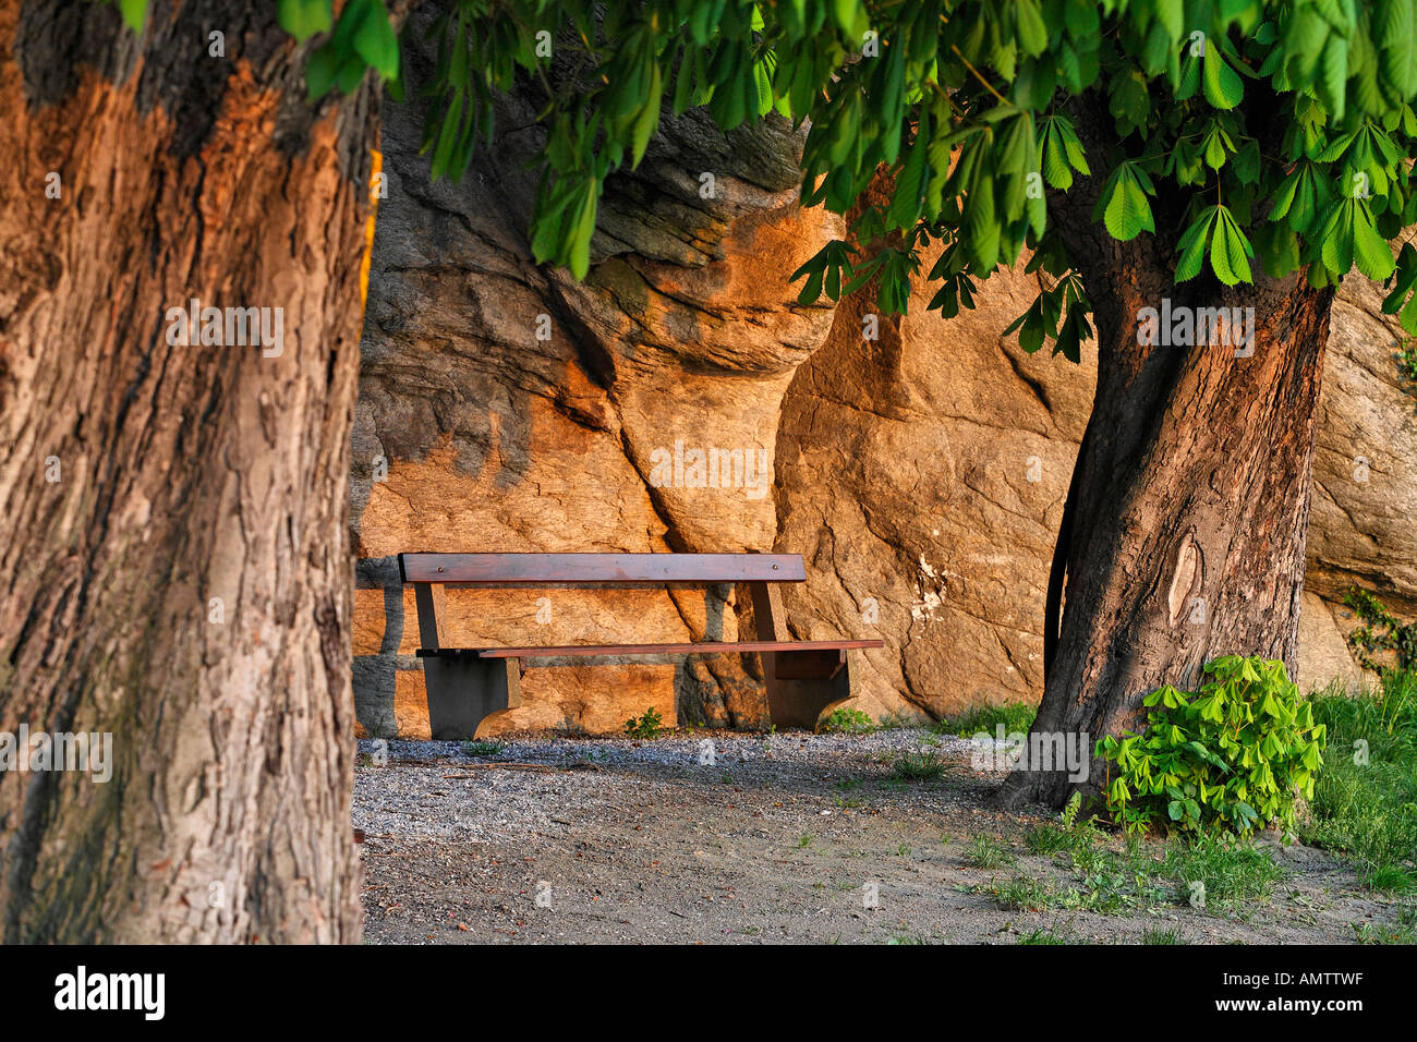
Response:
[[[802,583],[795,553],[401,553],[404,583]]]

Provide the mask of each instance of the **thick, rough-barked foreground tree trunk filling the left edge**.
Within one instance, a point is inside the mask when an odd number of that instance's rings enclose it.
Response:
[[[0,941],[360,937],[377,119],[367,81],[312,106],[302,69],[275,4],[153,3],[140,38],[108,3],[0,10],[0,732],[112,734],[108,781],[0,773]],[[188,346],[194,298],[269,336]]]

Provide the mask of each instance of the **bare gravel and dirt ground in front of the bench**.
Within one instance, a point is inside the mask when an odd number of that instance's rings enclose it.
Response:
[[[1282,879],[1234,907],[1193,909],[1178,890],[1119,914],[1007,910],[976,887],[1077,885],[1077,873],[1023,844],[1056,815],[986,807],[999,775],[972,770],[969,749],[920,729],[361,741],[366,940],[1010,944],[1047,930],[1077,943],[1148,931],[1345,943],[1355,924],[1397,917],[1342,862],[1277,844]],[[907,756],[944,771],[897,780]],[[1012,863],[975,868],[978,835],[996,836]]]

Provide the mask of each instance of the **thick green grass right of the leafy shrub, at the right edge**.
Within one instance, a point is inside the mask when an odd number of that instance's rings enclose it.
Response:
[[[1406,893],[1417,862],[1417,673],[1312,696],[1328,753],[1299,838],[1352,858],[1374,890]]]

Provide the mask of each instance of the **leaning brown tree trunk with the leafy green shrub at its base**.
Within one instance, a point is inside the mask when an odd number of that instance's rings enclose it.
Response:
[[[1165,233],[1117,242],[1093,224],[1098,180],[1050,206],[1093,302],[1098,380],[1060,526],[1033,724],[1036,734],[1085,734],[1088,754],[1142,723],[1148,692],[1193,688],[1212,658],[1277,658],[1292,673],[1333,296],[1258,268],[1255,285],[1176,285]],[[1179,217],[1158,201],[1158,228]],[[1165,298],[1172,308],[1254,308],[1253,354],[1139,344],[1141,309]],[[1000,802],[1061,807],[1104,783],[1097,760],[1076,784],[1050,767],[1020,763]]]

